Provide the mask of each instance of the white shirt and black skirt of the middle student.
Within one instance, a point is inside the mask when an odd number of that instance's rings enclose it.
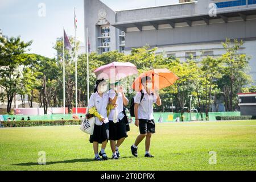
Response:
[[[113,100],[115,97],[115,91],[113,89],[110,89],[108,94],[109,98]],[[121,93],[118,94],[116,104],[117,107],[112,109],[109,113],[109,140],[119,140],[121,138],[128,137],[126,131],[127,117],[123,113],[123,97]],[[117,116],[115,116],[117,117],[117,123],[113,122],[115,113],[117,113]]]

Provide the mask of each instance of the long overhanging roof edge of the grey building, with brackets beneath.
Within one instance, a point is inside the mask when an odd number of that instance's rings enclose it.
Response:
[[[217,16],[210,17],[209,14],[194,14],[194,15],[183,15],[183,16],[171,16],[165,18],[155,18],[155,19],[144,19],[144,20],[133,20],[127,22],[117,22],[111,23],[112,26],[126,31],[127,28],[137,27],[140,31],[142,31],[143,26],[154,26],[156,30],[158,30],[159,24],[170,24],[173,28],[175,28],[175,23],[187,23],[188,26],[192,26],[192,22],[204,20],[206,24],[209,24],[210,19],[223,19],[224,22],[228,22],[228,18],[241,16],[243,20],[246,20],[246,16],[248,15],[256,15],[256,7],[246,7],[241,9],[231,9],[225,11],[218,11]]]

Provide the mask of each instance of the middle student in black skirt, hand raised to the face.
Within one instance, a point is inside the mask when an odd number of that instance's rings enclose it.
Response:
[[[120,158],[119,147],[125,141],[125,138],[128,137],[126,131],[127,117],[123,113],[125,112],[123,106],[127,106],[129,100],[123,93],[122,86],[118,85],[118,82],[111,84],[111,89],[108,92],[109,101],[112,105],[116,105],[109,114],[109,140],[113,152],[112,159]]]

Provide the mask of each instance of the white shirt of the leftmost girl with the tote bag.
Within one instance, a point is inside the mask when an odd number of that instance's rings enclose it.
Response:
[[[107,115],[107,109],[106,107],[109,104],[109,97],[107,93],[104,93],[102,98],[101,96],[98,95],[98,92],[93,93],[92,96],[90,96],[90,100],[89,100],[89,109],[91,109],[92,107],[96,107],[97,111],[99,114],[101,114],[105,121],[104,123],[108,123],[109,119],[108,119],[108,115]],[[98,126],[102,125],[102,122],[100,121],[100,119],[98,119],[97,117],[95,117],[95,124]]]

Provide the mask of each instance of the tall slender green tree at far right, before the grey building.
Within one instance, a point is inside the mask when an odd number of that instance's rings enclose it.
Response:
[[[230,39],[226,39],[226,42],[222,43],[226,53],[220,57],[224,63],[224,69],[222,69],[223,77],[218,81],[218,85],[224,93],[227,111],[234,111],[234,106],[238,108],[237,93],[252,81],[251,76],[246,73],[250,57],[238,53],[242,45],[242,41],[231,42]]]

